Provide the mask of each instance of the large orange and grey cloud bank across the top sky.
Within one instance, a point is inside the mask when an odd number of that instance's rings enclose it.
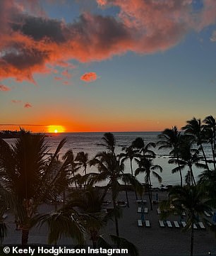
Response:
[[[0,1],[0,79],[35,82],[35,73],[50,73],[56,65],[71,68],[69,60],[91,62],[128,51],[167,50],[188,31],[216,21],[215,0],[203,0],[200,10],[193,9],[192,0],[97,0],[102,8],[118,7],[119,13],[83,13],[73,23],[44,17],[38,3]]]

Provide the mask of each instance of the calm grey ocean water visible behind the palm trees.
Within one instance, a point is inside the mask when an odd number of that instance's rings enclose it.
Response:
[[[138,137],[144,139],[145,143],[154,142],[157,143],[157,136],[160,134],[159,132],[126,132],[126,133],[113,133],[116,138],[116,154],[122,152],[122,148],[125,146],[131,145],[131,142]],[[61,157],[68,151],[73,150],[73,153],[76,155],[80,151],[87,152],[89,158],[94,157],[97,152],[101,152],[106,150],[103,146],[100,145],[102,143],[102,136],[104,133],[47,133],[46,141],[49,145],[49,153],[54,153],[61,139],[66,138],[66,144],[64,148],[61,149],[59,157]],[[13,144],[15,139],[6,139],[6,142],[9,144]],[[156,153],[156,157],[154,159],[154,165],[160,165],[163,168],[162,173],[158,171],[160,176],[162,177],[162,183],[160,184],[157,179],[152,176],[152,187],[160,187],[167,185],[176,185],[180,184],[179,173],[172,174],[172,169],[176,167],[176,165],[168,164],[169,160],[169,150],[158,150],[158,148],[153,149]],[[210,145],[205,145],[205,152],[208,157],[211,155]],[[136,162],[133,160],[133,170],[136,170],[138,166]],[[88,167],[87,172],[97,171],[96,167]],[[186,175],[188,168],[183,170],[183,176]],[[80,171],[81,173],[82,171]],[[125,172],[131,173],[129,160],[125,162]],[[193,167],[194,175],[197,179],[198,174],[202,172],[202,169],[197,169]],[[144,182],[143,174],[138,175],[138,180],[140,182]],[[104,185],[105,182],[101,185]]]

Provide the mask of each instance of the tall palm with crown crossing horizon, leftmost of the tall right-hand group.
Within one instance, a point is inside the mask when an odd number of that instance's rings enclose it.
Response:
[[[171,148],[172,151],[169,152],[169,155],[172,155],[172,157],[176,158],[176,162],[178,165],[178,168],[176,169],[180,174],[180,184],[182,187],[183,184],[183,178],[181,173],[181,167],[179,163],[179,145],[181,143],[182,135],[179,132],[179,130],[174,126],[172,129],[165,129],[162,134],[158,135],[158,138],[160,139],[157,142],[157,145],[160,145],[159,150],[163,148]]]

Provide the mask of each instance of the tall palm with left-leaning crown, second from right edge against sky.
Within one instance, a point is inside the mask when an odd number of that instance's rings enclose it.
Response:
[[[186,123],[186,126],[182,127],[182,130],[184,130],[185,134],[192,135],[196,139],[197,145],[200,146],[200,150],[203,152],[206,168],[209,169],[208,161],[206,159],[205,151],[203,149],[203,142],[205,141],[204,126],[202,126],[200,118],[196,119],[195,117],[193,117],[191,120],[186,121]]]

